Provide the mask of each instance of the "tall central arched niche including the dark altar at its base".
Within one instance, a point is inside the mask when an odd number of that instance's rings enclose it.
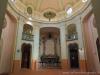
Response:
[[[44,27],[40,29],[39,55],[42,66],[45,64],[48,67],[60,67],[61,49],[59,28]]]

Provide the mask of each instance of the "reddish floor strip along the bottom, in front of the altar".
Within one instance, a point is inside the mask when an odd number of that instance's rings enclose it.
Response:
[[[100,75],[96,72],[66,72],[61,69],[43,69],[43,70],[20,70],[19,72],[12,72],[10,75]]]

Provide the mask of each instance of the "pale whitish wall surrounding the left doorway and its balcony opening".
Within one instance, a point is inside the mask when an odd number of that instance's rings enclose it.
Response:
[[[21,57],[22,57],[21,46],[23,43],[27,43],[27,44],[32,45],[32,53],[34,50],[34,41],[22,40],[22,32],[23,32],[24,24],[25,24],[25,19],[20,16],[19,20],[18,20],[18,28],[17,28],[15,60],[21,60]],[[33,28],[33,32],[34,32],[34,28]],[[33,35],[34,35],[34,33],[33,33]],[[33,55],[32,53],[31,53],[31,55]],[[32,58],[32,56],[31,56],[31,58]]]

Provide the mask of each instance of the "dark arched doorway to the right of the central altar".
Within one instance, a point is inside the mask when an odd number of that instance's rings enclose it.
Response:
[[[69,48],[70,67],[79,68],[78,44],[77,43],[69,44],[68,48]]]

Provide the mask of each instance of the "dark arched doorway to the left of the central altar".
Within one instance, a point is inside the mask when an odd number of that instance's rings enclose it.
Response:
[[[31,63],[31,44],[22,44],[21,68],[30,68]]]

